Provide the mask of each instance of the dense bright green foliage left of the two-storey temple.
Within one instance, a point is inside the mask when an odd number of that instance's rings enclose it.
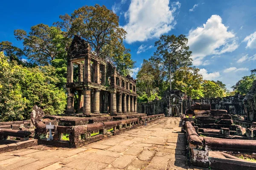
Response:
[[[29,119],[32,107],[38,105],[46,114],[63,113],[66,94],[54,77],[55,68],[26,68],[9,62],[0,54],[0,121]]]

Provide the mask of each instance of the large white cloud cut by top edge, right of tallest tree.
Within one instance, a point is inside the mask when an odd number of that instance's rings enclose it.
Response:
[[[122,28],[127,32],[128,43],[158,38],[174,28],[175,11],[180,3],[169,6],[169,0],[131,0],[125,19],[128,23]]]

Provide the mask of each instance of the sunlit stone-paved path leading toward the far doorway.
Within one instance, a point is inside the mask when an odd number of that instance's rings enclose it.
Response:
[[[43,145],[0,154],[0,170],[187,170],[180,118],[165,117],[81,148]]]

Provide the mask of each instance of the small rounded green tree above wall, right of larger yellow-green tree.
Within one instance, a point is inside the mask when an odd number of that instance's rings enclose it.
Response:
[[[204,80],[202,87],[205,98],[224,97],[223,89],[221,89],[214,81]]]

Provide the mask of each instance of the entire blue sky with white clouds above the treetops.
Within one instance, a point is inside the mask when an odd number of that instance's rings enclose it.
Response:
[[[125,47],[131,49],[136,76],[143,59],[150,58],[161,34],[185,34],[204,79],[221,80],[230,89],[241,77],[256,68],[255,0],[44,0],[3,1],[0,41],[17,47],[13,31],[39,23],[52,25],[61,14],[94,4],[112,9],[120,26],[128,32]]]

